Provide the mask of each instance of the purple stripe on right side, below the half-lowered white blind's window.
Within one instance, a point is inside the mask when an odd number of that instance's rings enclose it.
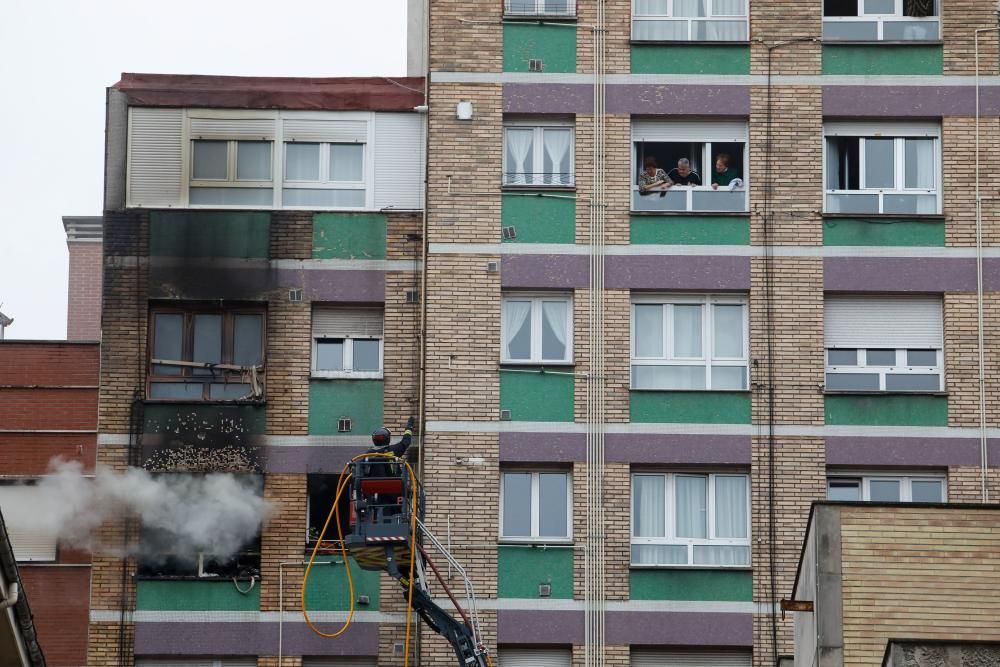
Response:
[[[1000,440],[989,440],[989,458],[998,460]],[[979,465],[975,438],[826,438],[826,463],[832,466],[898,466],[903,468]]]

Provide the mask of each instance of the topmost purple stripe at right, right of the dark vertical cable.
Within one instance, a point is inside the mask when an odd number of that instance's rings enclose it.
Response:
[[[1000,89],[981,89],[981,111],[1000,114]],[[824,86],[823,115],[935,118],[976,113],[974,86]]]

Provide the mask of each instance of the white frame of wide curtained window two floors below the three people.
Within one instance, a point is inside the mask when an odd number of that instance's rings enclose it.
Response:
[[[637,476],[645,477],[656,477],[661,476],[664,478],[663,484],[663,501],[664,510],[663,516],[665,521],[664,527],[664,537],[636,537],[635,536],[635,488],[636,485],[631,483]],[[707,498],[707,533],[708,537],[677,537],[677,517],[675,512],[676,504],[676,486],[675,480],[677,477],[707,477],[708,483],[706,484],[705,492],[708,494]],[[716,516],[715,516],[715,481],[718,477],[742,477],[746,480],[746,510],[747,510],[747,524],[746,524],[746,538],[720,538],[714,537],[716,532]],[[695,568],[695,569],[737,569],[737,570],[748,570],[751,567],[751,554],[750,554],[750,541],[752,537],[752,523],[753,523],[753,512],[751,511],[750,500],[753,495],[753,490],[750,486],[750,475],[742,472],[706,472],[706,471],[684,471],[684,472],[660,472],[656,470],[633,470],[630,476],[630,490],[629,490],[629,566],[633,568]],[[656,564],[645,564],[645,563],[633,563],[631,556],[631,547],[634,545],[664,545],[664,546],[686,546],[687,547],[687,563],[656,563]],[[747,563],[745,565],[705,565],[705,564],[695,564],[694,562],[694,548],[696,546],[738,546],[747,548]]]

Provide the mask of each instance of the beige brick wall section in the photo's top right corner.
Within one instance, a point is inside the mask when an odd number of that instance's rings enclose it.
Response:
[[[944,73],[975,74],[975,33],[978,28],[997,26],[996,3],[988,0],[948,0],[941,10],[944,39]],[[979,71],[997,73],[997,33],[979,35]]]

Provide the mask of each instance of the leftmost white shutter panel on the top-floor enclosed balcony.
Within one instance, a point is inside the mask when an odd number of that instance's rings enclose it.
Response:
[[[183,129],[182,109],[129,109],[129,206],[180,205]]]

